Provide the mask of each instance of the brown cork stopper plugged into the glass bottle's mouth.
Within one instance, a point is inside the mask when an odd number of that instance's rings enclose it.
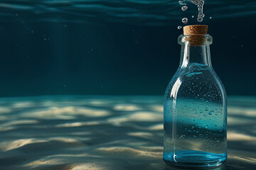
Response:
[[[191,46],[199,46],[205,44],[207,30],[208,26],[205,25],[184,26],[183,34],[189,35],[186,40],[190,42]]]

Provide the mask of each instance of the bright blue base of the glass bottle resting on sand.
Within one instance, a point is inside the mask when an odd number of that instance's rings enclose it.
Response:
[[[213,154],[200,151],[176,151],[164,153],[164,162],[170,166],[190,169],[210,169],[223,166],[227,154]]]

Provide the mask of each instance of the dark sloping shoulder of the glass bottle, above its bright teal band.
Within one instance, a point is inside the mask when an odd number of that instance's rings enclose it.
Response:
[[[206,97],[225,98],[225,88],[213,67],[205,64],[191,63],[179,67],[166,88],[166,97]],[[215,97],[214,97],[215,96]]]

